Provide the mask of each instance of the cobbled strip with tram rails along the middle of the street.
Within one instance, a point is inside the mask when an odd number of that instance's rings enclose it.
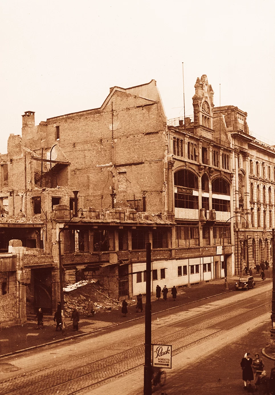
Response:
[[[240,302],[239,302],[240,303]],[[233,303],[232,305],[236,305]],[[233,324],[231,321],[230,325],[223,327],[222,329],[212,329],[211,333],[203,335],[205,332],[205,322],[197,325],[190,325],[189,327],[184,327],[175,331],[173,334],[167,334],[163,336],[158,336],[154,339],[155,342],[169,342],[169,344],[175,344],[176,348],[173,348],[173,355],[176,355],[187,348],[191,348],[197,344],[203,343],[214,337],[221,335],[222,333],[232,329],[232,327],[237,326],[243,322],[249,321],[249,315],[256,309],[260,311],[264,310],[264,306],[269,305],[269,302],[263,303],[253,308],[243,309],[243,314],[248,318],[242,320],[237,320]],[[227,306],[228,308],[228,306]],[[240,310],[236,309],[228,312],[228,314],[223,315],[221,320],[218,317],[208,320],[207,327],[218,325],[221,322],[232,320],[234,316],[240,316]],[[202,312],[201,314],[207,315],[208,313],[213,313],[212,311]],[[199,314],[199,315],[201,315]],[[198,315],[196,316],[196,318]],[[188,318],[186,318],[188,319]],[[185,319],[185,321],[186,321]],[[192,317],[189,318],[192,320]],[[176,324],[179,325],[181,321]],[[210,329],[209,329],[210,330]],[[196,337],[196,334],[201,333],[199,338],[192,340],[192,336]],[[195,335],[194,335],[195,334]],[[184,339],[190,339],[188,342],[184,342]],[[82,365],[77,369],[64,369],[63,371],[59,369],[59,372],[49,372],[49,371],[38,371],[32,372],[32,377],[28,380],[26,375],[17,376],[6,382],[0,382],[0,395],[32,395],[40,394],[46,395],[49,393],[58,393],[59,395],[72,395],[80,394],[82,391],[89,388],[99,387],[109,381],[114,380],[125,374],[129,374],[136,369],[139,369],[143,365],[143,354],[144,345],[139,344],[122,352],[110,355],[108,357],[98,359],[97,361],[91,361]],[[81,358],[82,359],[82,358]],[[51,392],[49,392],[51,390]],[[53,392],[54,391],[54,392]],[[58,392],[57,392],[58,391]]]

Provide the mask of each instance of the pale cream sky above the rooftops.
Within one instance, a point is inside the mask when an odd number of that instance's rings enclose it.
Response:
[[[100,107],[114,85],[156,79],[167,118],[193,113],[197,77],[214,104],[248,113],[249,129],[274,141],[275,2],[150,0],[0,1],[0,152],[35,123]]]

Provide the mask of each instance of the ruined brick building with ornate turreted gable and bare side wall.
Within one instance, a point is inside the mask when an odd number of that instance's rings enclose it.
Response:
[[[167,122],[154,80],[112,87],[101,107],[38,126],[25,112],[22,137],[10,135],[0,156],[0,253],[21,241],[27,311],[57,305],[59,232],[65,282],[98,278],[116,298],[145,293],[147,242],[152,291],[235,273],[239,213],[251,223],[252,177],[238,167],[246,180],[240,192],[236,155],[257,143],[247,126],[240,137],[225,110],[217,113],[213,95],[206,75],[198,78],[192,122]],[[15,267],[2,266],[6,284]]]

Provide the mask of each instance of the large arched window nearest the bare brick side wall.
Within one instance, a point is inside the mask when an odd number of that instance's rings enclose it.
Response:
[[[192,190],[198,190],[198,178],[192,171],[183,169],[174,173],[175,207],[182,209],[198,209],[199,194]]]

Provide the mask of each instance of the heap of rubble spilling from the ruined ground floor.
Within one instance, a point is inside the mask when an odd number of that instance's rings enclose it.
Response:
[[[64,314],[66,317],[71,316],[74,307],[80,314],[87,314],[88,299],[95,305],[95,313],[101,313],[111,310],[119,310],[121,301],[112,299],[97,280],[83,280],[75,284],[69,284],[64,290]],[[127,301],[128,305],[135,304],[136,301]]]

